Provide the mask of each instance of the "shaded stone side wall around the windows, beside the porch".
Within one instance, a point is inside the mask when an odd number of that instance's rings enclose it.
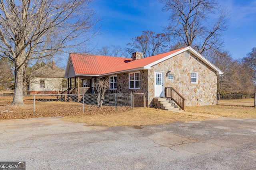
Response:
[[[115,75],[115,74],[114,74]],[[109,79],[109,76],[105,76]],[[146,93],[148,91],[148,70],[140,71],[140,89],[129,89],[129,74],[117,74],[117,90],[108,90],[106,93]]]

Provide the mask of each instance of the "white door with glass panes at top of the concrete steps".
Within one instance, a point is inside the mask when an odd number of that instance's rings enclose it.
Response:
[[[155,97],[164,97],[164,72],[155,71]]]

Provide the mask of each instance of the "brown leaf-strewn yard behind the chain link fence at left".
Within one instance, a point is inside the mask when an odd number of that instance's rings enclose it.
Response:
[[[60,102],[55,96],[37,96],[34,111],[34,96],[24,96],[24,104],[22,107],[10,106],[13,96],[0,96],[0,119],[26,119],[32,117],[54,117],[54,116],[81,116],[92,114],[112,114],[130,110],[130,107],[108,107],[104,106],[83,106],[78,102]],[[48,102],[47,102],[48,101]]]

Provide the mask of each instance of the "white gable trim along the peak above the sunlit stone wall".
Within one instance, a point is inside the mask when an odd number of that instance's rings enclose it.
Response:
[[[203,61],[205,64],[207,64],[208,66],[210,66],[213,70],[215,70],[216,71],[216,74],[223,74],[223,72],[218,68],[218,67],[216,67],[214,64],[212,64],[210,61],[208,61],[205,57],[203,57],[202,55],[200,55],[196,50],[194,50],[192,47],[186,47],[186,48],[184,48],[184,49],[182,49],[182,50],[180,50],[180,51],[177,51],[176,53],[173,53],[173,54],[171,54],[171,55],[168,55],[168,56],[166,56],[166,57],[164,57],[164,58],[162,58],[162,59],[160,59],[160,60],[158,60],[158,61],[155,61],[155,62],[153,62],[153,63],[150,63],[150,64],[148,64],[148,65],[146,65],[146,66],[144,66],[144,69],[150,69],[151,68],[151,66],[154,66],[154,65],[156,65],[156,64],[158,64],[158,63],[161,63],[162,61],[165,61],[165,60],[167,60],[167,59],[170,59],[171,57],[174,57],[174,56],[176,56],[176,55],[178,55],[178,54],[180,54],[180,53],[183,53],[184,51],[190,51],[193,55],[195,55],[196,57],[198,57],[201,61]]]

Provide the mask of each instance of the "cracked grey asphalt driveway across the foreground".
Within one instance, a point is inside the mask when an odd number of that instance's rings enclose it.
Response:
[[[221,117],[142,127],[0,120],[0,161],[26,170],[256,169],[256,119]]]

